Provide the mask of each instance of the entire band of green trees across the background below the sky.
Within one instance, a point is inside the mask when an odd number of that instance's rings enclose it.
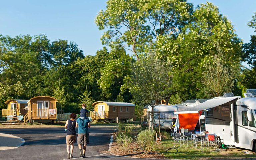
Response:
[[[254,29],[255,16],[248,23]],[[95,23],[110,48],[95,56],[46,35],[1,35],[2,107],[7,98],[48,95],[65,112],[78,112],[84,102],[123,101],[135,103],[140,116],[144,105],[161,99],[176,104],[225,92],[242,96],[256,87],[255,36],[243,44],[212,3],[194,8],[185,0],[107,1]]]

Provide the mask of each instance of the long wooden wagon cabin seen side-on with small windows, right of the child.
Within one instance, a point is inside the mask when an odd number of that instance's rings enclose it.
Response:
[[[124,102],[103,102],[97,101],[92,104],[94,111],[90,112],[93,120],[108,120],[110,123],[120,120],[134,118],[134,107],[132,103]]]

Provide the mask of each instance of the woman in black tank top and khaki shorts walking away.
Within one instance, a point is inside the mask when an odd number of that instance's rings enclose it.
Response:
[[[67,143],[67,152],[68,152],[68,159],[72,157],[73,149],[74,149],[74,143],[76,141],[76,114],[71,113],[69,115],[70,119],[66,121],[65,128],[67,131],[66,136],[66,143]],[[70,152],[69,152],[69,146],[70,146]]]

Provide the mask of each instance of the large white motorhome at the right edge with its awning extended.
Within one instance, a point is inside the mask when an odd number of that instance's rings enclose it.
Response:
[[[218,97],[175,113],[205,111],[205,129],[216,133],[222,144],[256,152],[256,98],[252,93],[249,95],[247,93],[245,98]]]

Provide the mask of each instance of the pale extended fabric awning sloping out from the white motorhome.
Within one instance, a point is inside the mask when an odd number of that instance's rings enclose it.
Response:
[[[174,112],[174,114],[186,114],[186,113],[199,113],[200,111],[208,111],[211,108],[223,105],[225,103],[228,103],[230,101],[233,101],[235,99],[241,98],[240,96],[236,97],[227,97],[227,98],[216,98],[216,99],[209,99],[203,103],[200,103],[196,105],[195,107],[184,107],[178,106],[178,109],[181,109],[180,111]]]

